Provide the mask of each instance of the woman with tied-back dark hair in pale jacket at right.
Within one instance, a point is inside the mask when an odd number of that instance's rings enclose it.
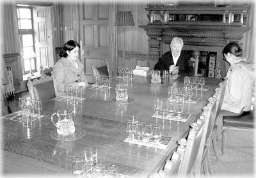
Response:
[[[252,108],[255,63],[242,58],[243,50],[237,43],[228,43],[223,48],[223,59],[230,64],[225,80],[226,91],[221,110],[239,114]]]

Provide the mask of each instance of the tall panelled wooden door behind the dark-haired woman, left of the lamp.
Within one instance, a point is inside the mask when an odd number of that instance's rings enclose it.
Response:
[[[84,49],[81,57],[88,82],[93,83],[92,63],[109,60],[109,72],[112,66],[112,7],[108,3],[82,3],[79,6],[80,44]]]

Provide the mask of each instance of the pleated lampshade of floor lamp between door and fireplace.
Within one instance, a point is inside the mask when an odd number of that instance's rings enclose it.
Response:
[[[131,11],[116,12],[114,26],[134,26]]]

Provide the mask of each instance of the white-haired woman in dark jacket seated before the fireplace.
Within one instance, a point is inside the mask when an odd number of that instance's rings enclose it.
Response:
[[[158,62],[154,66],[154,70],[168,70],[172,73],[175,67],[179,66],[179,73],[189,73],[189,54],[186,54],[183,48],[183,40],[178,37],[174,37],[170,43],[170,51],[161,56]]]

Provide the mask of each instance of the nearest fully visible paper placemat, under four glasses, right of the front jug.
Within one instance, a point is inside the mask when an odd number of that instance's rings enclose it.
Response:
[[[153,148],[158,148],[158,149],[166,149],[166,147],[168,147],[168,145],[170,144],[172,139],[173,139],[173,137],[167,137],[167,136],[163,136],[162,135],[162,137],[159,140],[158,144],[156,144],[154,138],[149,138],[149,143],[147,143],[147,138],[143,138],[139,142],[138,136],[136,136],[134,134],[134,139],[133,140],[130,140],[129,137],[127,137],[124,140],[124,142],[130,143],[130,144],[143,145],[143,146],[146,146],[146,147],[153,147]]]

